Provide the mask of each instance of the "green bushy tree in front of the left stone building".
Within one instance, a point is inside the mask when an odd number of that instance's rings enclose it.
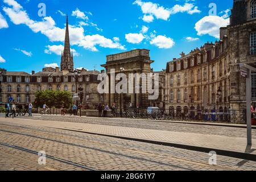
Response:
[[[64,105],[65,108],[69,108],[72,104],[72,94],[64,91],[44,90],[35,93],[35,101],[39,107],[46,104],[48,107],[60,108]]]

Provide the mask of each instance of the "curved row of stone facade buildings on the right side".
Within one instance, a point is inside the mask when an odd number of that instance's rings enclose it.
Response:
[[[256,62],[256,1],[234,0],[230,25],[220,28],[220,41],[180,55],[167,63],[167,110],[245,109],[240,63]],[[253,80],[256,85],[255,76]]]

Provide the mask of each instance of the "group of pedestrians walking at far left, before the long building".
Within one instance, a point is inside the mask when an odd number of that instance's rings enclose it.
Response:
[[[32,117],[33,105],[31,102],[26,102],[26,104],[16,104],[15,102],[5,104],[6,117],[18,117],[24,116],[28,113],[29,117]]]

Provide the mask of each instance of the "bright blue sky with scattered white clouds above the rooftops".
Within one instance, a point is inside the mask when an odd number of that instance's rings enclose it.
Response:
[[[39,3],[46,16],[39,16]],[[215,41],[228,25],[232,0],[0,0],[0,67],[8,71],[41,71],[60,66],[65,14],[75,67],[102,69],[106,55],[150,49],[152,68],[184,51]],[[209,16],[209,4],[217,12]],[[212,11],[211,11],[212,12]]]

